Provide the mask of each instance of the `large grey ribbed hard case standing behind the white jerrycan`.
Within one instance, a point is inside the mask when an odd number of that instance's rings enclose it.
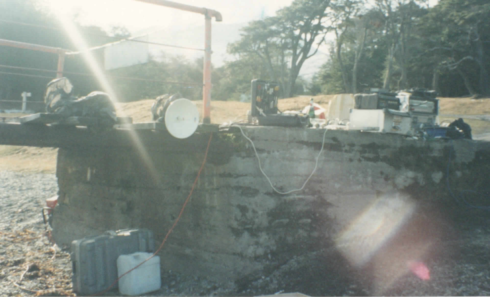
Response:
[[[155,251],[151,230],[121,229],[73,240],[73,291],[87,296],[107,289],[118,278],[118,257],[137,251]],[[116,282],[111,289],[117,287]]]

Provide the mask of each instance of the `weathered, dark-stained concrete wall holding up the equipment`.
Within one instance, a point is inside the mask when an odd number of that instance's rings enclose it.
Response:
[[[315,167],[324,130],[243,130],[277,189],[303,185]],[[124,147],[60,149],[57,243],[107,229],[150,228],[158,245],[191,191],[209,136],[163,135],[164,141],[143,143],[146,156]],[[332,246],[333,237],[383,193],[451,199],[448,184],[488,189],[489,169],[490,142],[327,131],[316,172],[304,189],[280,195],[239,130],[215,133],[192,198],[160,252],[162,266],[235,279]]]

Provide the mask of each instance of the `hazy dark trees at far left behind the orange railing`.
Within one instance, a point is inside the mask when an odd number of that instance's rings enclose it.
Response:
[[[0,39],[76,50],[57,19],[49,14],[39,0],[0,1],[0,20]],[[89,46],[109,42],[107,34],[97,26],[77,27]],[[99,61],[102,60],[101,52],[96,53],[96,56]],[[43,101],[46,85],[56,77],[58,56],[53,53],[1,46],[0,57],[0,64],[7,69],[3,71],[7,73],[0,74],[0,100],[20,99],[23,91],[29,91],[32,93],[32,101]],[[94,78],[76,74],[90,73],[80,57],[67,56],[64,70],[74,85],[75,95],[83,96],[90,91],[100,90]],[[39,103],[37,107],[36,110],[42,111],[44,106]]]

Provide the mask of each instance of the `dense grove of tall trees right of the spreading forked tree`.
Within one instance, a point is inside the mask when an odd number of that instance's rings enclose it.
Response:
[[[338,11],[317,92],[425,88],[441,96],[490,95],[490,2],[375,0]],[[358,6],[361,4],[361,6]]]

